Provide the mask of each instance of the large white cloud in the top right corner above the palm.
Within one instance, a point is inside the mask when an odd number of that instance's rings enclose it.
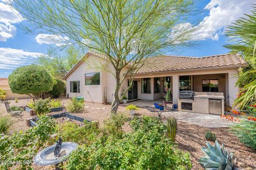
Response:
[[[196,26],[198,30],[194,38],[218,40],[226,26],[243,16],[244,13],[251,13],[252,4],[255,3],[255,0],[211,0],[205,6],[206,10],[210,10],[209,16],[205,16],[203,21]]]

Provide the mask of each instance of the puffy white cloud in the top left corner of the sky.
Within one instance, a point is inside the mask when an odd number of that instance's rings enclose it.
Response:
[[[9,1],[2,0],[0,2],[0,41],[6,41],[8,38],[12,38],[17,29],[11,24],[19,23],[23,20],[17,10],[6,4]]]

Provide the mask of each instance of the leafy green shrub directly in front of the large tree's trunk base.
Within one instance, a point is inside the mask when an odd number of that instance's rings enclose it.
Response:
[[[104,120],[105,133],[116,138],[121,138],[123,135],[122,126],[128,121],[127,116],[121,112],[112,113],[111,117]]]

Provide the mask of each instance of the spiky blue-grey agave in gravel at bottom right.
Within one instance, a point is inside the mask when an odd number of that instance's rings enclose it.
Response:
[[[206,170],[232,170],[234,169],[233,152],[228,152],[219,145],[218,140],[215,140],[215,146],[213,147],[209,142],[206,142],[207,148],[201,148],[205,154],[205,157],[198,160],[200,164],[205,167]]]

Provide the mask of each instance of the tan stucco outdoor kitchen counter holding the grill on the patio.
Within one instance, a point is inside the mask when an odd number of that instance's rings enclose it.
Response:
[[[209,99],[221,100],[220,112],[215,114],[224,114],[224,96],[223,92],[195,92],[194,100],[179,99],[179,111],[210,114]],[[191,106],[190,108],[188,106]]]

